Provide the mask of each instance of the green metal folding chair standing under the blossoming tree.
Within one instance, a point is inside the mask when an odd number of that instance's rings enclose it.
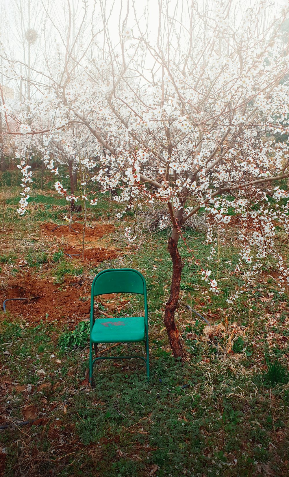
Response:
[[[144,296],[145,316],[131,318],[94,318],[94,297],[106,293],[137,293]],[[145,342],[144,356],[97,356],[99,343]],[[93,359],[92,344],[96,358]],[[150,378],[149,365],[149,332],[147,285],[144,277],[133,269],[103,270],[92,282],[90,305],[90,347],[89,347],[89,383],[92,385],[93,365],[100,359],[140,358],[147,366],[147,377]]]

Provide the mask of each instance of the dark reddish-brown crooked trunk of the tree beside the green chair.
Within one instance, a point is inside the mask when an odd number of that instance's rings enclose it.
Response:
[[[171,295],[169,300],[166,303],[165,307],[165,317],[164,324],[166,326],[171,349],[175,358],[183,359],[185,356],[182,342],[180,340],[180,335],[176,327],[174,320],[175,310],[178,305],[179,295],[180,295],[180,285],[181,285],[181,275],[183,269],[183,263],[181,255],[178,250],[178,234],[177,239],[174,240],[172,237],[168,240],[168,249],[172,259],[172,279],[171,279]]]

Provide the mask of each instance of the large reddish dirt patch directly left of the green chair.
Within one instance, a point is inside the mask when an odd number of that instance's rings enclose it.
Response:
[[[90,286],[69,283],[66,289],[45,280],[22,279],[9,284],[6,290],[0,290],[0,301],[9,298],[31,300],[7,301],[6,310],[26,321],[39,322],[57,320],[67,324],[89,318]]]

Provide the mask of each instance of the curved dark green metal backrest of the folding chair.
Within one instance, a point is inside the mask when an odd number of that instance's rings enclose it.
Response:
[[[103,270],[92,282],[90,302],[90,323],[94,321],[94,297],[106,293],[137,293],[144,295],[146,328],[148,326],[148,301],[146,280],[138,270],[109,269]]]

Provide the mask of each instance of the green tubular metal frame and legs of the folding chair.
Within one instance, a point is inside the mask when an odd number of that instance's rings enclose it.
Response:
[[[139,277],[142,280],[143,283],[143,292],[141,291],[134,291],[133,286],[132,289],[128,290],[127,287],[124,286],[122,288],[121,282],[118,283],[117,290],[113,290],[114,287],[109,288],[107,291],[100,290],[101,292],[97,292],[97,280],[100,279],[101,276],[103,276],[105,273],[110,272],[110,273],[115,273],[116,277],[119,276],[121,278],[121,274],[126,274],[126,272],[133,272],[139,275]],[[118,274],[118,275],[117,275]],[[136,293],[136,294],[141,294],[144,295],[144,311],[145,311],[145,345],[146,345],[146,357],[144,356],[97,356],[97,343],[93,342],[91,340],[91,332],[95,323],[95,317],[94,317],[94,297],[103,295],[106,293]],[[148,299],[147,299],[147,285],[146,285],[146,280],[144,279],[143,275],[139,273],[138,270],[134,269],[108,269],[108,270],[103,270],[98,275],[96,275],[95,279],[92,282],[91,286],[91,302],[90,302],[90,338],[89,338],[89,383],[92,385],[92,377],[93,377],[93,365],[96,363],[96,361],[99,361],[101,359],[132,359],[132,358],[139,358],[142,359],[146,363],[146,368],[147,368],[147,379],[150,379],[150,363],[149,363],[149,318],[148,318]],[[125,341],[122,341],[125,342]],[[94,349],[95,349],[95,354],[96,358],[93,359],[93,347],[92,345],[94,344]]]

